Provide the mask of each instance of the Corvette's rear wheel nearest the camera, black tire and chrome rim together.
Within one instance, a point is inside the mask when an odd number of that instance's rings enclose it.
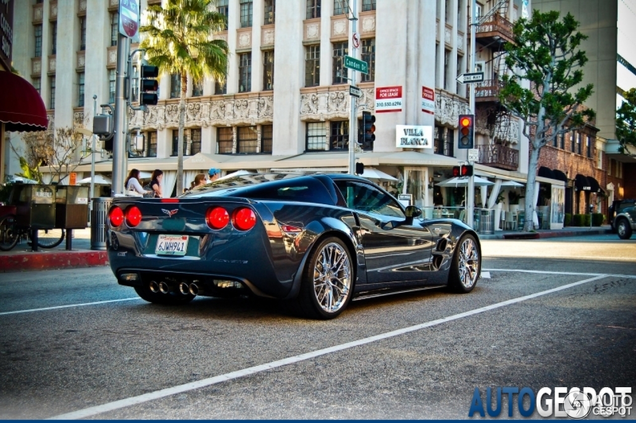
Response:
[[[324,267],[325,263],[329,268]],[[355,277],[354,262],[345,243],[336,237],[326,238],[308,256],[300,293],[289,305],[296,314],[310,319],[338,317],[351,301]]]

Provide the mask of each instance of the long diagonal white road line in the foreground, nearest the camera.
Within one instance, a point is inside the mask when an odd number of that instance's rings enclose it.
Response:
[[[232,379],[236,379],[236,378],[240,378],[240,377],[244,377],[248,375],[253,375],[254,373],[271,370],[273,368],[277,368],[280,366],[286,366],[287,364],[298,363],[299,361],[305,361],[315,357],[324,356],[325,354],[331,354],[332,352],[341,351],[341,350],[349,349],[352,347],[358,347],[359,345],[365,345],[367,343],[376,342],[376,341],[384,340],[387,338],[392,338],[393,336],[404,335],[404,333],[418,331],[424,328],[430,328],[431,326],[436,326],[438,324],[450,322],[457,319],[462,319],[463,317],[473,316],[474,314],[480,314],[490,310],[499,309],[500,307],[505,307],[506,305],[520,303],[525,300],[537,298],[538,296],[548,295],[551,293],[562,291],[563,289],[568,289],[574,286],[586,284],[587,282],[596,281],[597,279],[602,279],[606,276],[607,275],[598,275],[597,277],[584,279],[583,281],[573,282],[571,284],[559,286],[558,288],[552,288],[546,291],[541,291],[541,292],[530,294],[530,295],[520,296],[518,298],[513,298],[512,300],[507,300],[501,303],[487,305],[486,307],[480,307],[479,309],[470,310],[460,314],[454,314],[453,316],[442,317],[441,319],[416,324],[415,326],[409,326],[408,328],[397,329],[394,331],[381,333],[380,335],[369,336],[368,338],[363,338],[357,341],[342,343],[340,345],[335,345],[334,347],[315,350],[312,352],[307,352],[305,354],[300,354],[298,356],[287,357],[284,359],[272,361],[270,363],[260,364],[259,366],[253,366],[253,367],[248,367],[242,370],[231,371],[230,373],[225,373],[224,375],[218,375],[211,378],[197,380],[195,382],[190,382],[188,384],[177,385],[170,388],[160,389],[159,391],[148,392],[147,394],[142,394],[139,396],[133,396],[130,398],[120,399],[118,401],[113,401],[111,403],[84,408],[83,410],[77,410],[77,411],[66,413],[66,414],[60,414],[54,417],[50,417],[47,420],[83,419],[85,417],[90,417],[93,415],[106,413],[113,410],[118,410],[120,408],[124,408],[127,406],[146,403],[148,401],[153,401],[154,399],[164,398],[174,394],[179,394],[181,392],[192,391],[193,389],[204,388],[210,385],[225,382],[226,380],[232,380]]]

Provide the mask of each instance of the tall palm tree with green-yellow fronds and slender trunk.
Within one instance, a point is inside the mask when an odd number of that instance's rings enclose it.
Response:
[[[148,6],[141,48],[148,63],[161,74],[181,77],[179,101],[179,143],[177,144],[177,193],[183,192],[183,128],[185,126],[188,75],[193,82],[204,76],[225,80],[228,44],[212,39],[214,32],[226,29],[226,19],[213,9],[216,0],[168,0],[165,6]]]

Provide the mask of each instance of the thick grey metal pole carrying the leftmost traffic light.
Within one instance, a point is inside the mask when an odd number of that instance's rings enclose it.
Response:
[[[124,96],[125,79],[127,78],[128,50],[130,38],[119,33],[117,35],[117,76],[115,81],[115,115],[113,135],[113,197],[125,194],[123,186],[126,180],[128,154],[126,137],[128,134],[127,102]]]

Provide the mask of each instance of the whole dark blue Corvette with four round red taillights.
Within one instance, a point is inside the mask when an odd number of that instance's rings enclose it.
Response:
[[[177,198],[115,198],[107,249],[118,282],[151,303],[256,295],[330,319],[352,299],[473,290],[477,234],[421,214],[357,176],[249,174]]]

